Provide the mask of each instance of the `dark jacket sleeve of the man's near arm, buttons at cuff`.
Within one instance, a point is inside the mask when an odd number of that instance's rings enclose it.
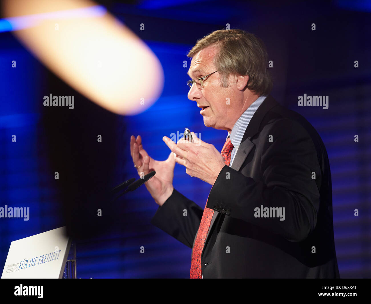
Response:
[[[261,180],[226,165],[211,188],[207,207],[224,208],[226,216],[301,242],[315,228],[319,211],[316,181],[321,184],[321,169],[313,140],[301,124],[289,119],[265,126],[259,136],[253,153],[261,155]]]

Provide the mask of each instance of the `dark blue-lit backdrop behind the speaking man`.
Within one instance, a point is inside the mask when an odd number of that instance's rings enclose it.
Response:
[[[371,1],[100,4],[160,59],[164,90],[144,113],[110,113],[43,67],[0,23],[0,207],[30,207],[29,221],[0,218],[1,268],[12,240],[68,225],[78,244],[79,278],[189,278],[191,249],[150,224],[158,206],[145,187],[116,203],[108,202],[106,191],[138,177],[130,135],[141,135],[158,160],[170,153],[162,136],[185,127],[221,150],[226,131],[206,128],[196,103],[187,99],[186,54],[197,39],[229,23],[263,40],[273,61],[272,96],[305,116],[321,135],[331,165],[340,275],[370,278]],[[74,95],[75,109],[43,107],[43,96],[50,93]],[[298,107],[298,96],[305,93],[329,96],[329,108]],[[174,187],[201,207],[211,189],[178,164]],[[102,217],[96,216],[98,208]]]

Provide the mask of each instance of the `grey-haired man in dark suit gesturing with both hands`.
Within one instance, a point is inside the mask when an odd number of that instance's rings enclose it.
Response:
[[[151,223],[193,248],[191,278],[339,278],[327,152],[304,117],[268,94],[263,43],[219,30],[188,56],[188,98],[228,136],[221,153],[194,133],[194,143],[164,137],[164,162],[132,136],[138,174],[157,172],[146,183],[160,206]],[[212,185],[204,209],[172,187],[175,162]]]

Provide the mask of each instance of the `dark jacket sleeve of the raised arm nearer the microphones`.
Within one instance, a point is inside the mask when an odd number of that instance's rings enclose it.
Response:
[[[204,210],[177,190],[159,206],[151,224],[192,248]]]

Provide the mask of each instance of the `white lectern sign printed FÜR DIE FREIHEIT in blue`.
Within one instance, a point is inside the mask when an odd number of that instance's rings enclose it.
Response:
[[[65,227],[13,241],[1,278],[62,278],[70,246]]]

